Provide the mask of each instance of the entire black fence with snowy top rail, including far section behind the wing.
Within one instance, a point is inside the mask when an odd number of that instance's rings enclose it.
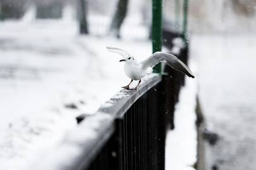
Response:
[[[173,53],[175,44],[168,44]],[[178,48],[176,55],[186,63],[187,45]],[[150,74],[137,91],[119,91],[34,169],[164,169],[166,131],[174,128],[174,105],[184,84],[183,74],[164,70],[168,76]]]

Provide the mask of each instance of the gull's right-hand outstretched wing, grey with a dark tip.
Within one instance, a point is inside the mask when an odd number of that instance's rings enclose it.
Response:
[[[176,71],[180,71],[185,73],[188,77],[194,78],[192,71],[184,64],[180,59],[178,59],[173,54],[168,54],[165,52],[155,52],[148,59],[142,61],[142,68],[148,69],[149,67],[154,67],[159,62],[166,62],[169,66],[171,66]]]

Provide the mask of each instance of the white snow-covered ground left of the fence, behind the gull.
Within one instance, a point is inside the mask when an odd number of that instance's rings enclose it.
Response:
[[[94,113],[128,84],[121,57],[106,46],[125,48],[137,59],[152,52],[141,26],[125,27],[123,40],[77,32],[71,20],[0,23],[1,170],[25,169],[76,127],[76,116]]]

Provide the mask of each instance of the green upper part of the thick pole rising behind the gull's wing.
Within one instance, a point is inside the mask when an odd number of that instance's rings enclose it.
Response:
[[[152,0],[152,50],[162,50],[162,0]],[[161,73],[161,63],[155,65],[154,72]]]

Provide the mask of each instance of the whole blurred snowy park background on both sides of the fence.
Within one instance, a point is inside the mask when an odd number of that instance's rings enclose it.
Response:
[[[205,169],[255,169],[256,1],[189,0],[187,14],[184,1],[162,4],[163,30],[186,33],[193,89],[218,141],[205,146]],[[106,46],[145,59],[151,21],[150,0],[0,0],[0,169],[26,169],[124,86]]]

